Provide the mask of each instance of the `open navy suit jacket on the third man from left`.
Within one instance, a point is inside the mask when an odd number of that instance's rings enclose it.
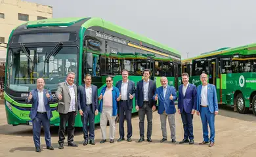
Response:
[[[95,110],[98,109],[98,88],[97,86],[91,84],[91,90],[92,90],[92,109],[93,113],[95,113]],[[77,104],[78,104],[78,110],[85,111],[86,109],[86,92],[85,92],[85,84],[78,86],[77,88]]]

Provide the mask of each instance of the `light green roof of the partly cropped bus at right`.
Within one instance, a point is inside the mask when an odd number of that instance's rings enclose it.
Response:
[[[218,55],[218,54],[226,54],[226,53],[232,53],[232,52],[234,52],[234,54],[236,54],[238,50],[244,50],[244,49],[256,50],[256,43],[246,44],[244,46],[238,46],[238,47],[234,47],[234,48],[221,48],[219,50],[209,52],[209,53],[205,53],[205,54],[202,54],[200,56],[196,56],[194,58],[187,58],[186,60],[182,60],[182,63],[188,62],[188,61],[191,61],[191,60],[196,60],[196,59],[199,59],[199,58],[215,56],[215,55]]]

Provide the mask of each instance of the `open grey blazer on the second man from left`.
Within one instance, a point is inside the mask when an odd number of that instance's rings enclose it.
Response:
[[[78,111],[77,109],[77,87],[74,84],[74,91],[75,91],[75,112]],[[62,99],[58,100],[58,113],[66,114],[70,109],[70,89],[68,88],[68,82],[61,82],[58,84],[58,89],[56,90],[56,96],[62,94]]]

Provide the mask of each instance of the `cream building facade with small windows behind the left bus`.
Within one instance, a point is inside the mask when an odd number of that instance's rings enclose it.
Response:
[[[8,43],[12,29],[28,21],[53,18],[53,7],[20,0],[0,0],[0,43]],[[0,45],[0,62],[5,62],[6,46]]]

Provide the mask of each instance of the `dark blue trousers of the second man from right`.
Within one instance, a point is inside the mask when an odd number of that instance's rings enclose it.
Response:
[[[186,113],[185,110],[181,112],[181,119],[184,129],[184,139],[194,139],[193,135],[193,114]]]

